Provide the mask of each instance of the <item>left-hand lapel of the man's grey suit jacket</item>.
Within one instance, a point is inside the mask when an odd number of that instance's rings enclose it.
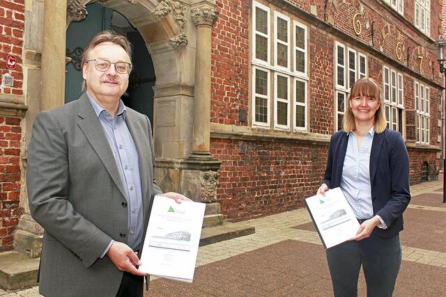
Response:
[[[79,125],[91,147],[93,147],[93,150],[95,150],[96,154],[98,154],[99,159],[109,172],[113,182],[119,188],[119,191],[121,191],[124,198],[127,199],[124,193],[121,177],[119,176],[118,168],[116,167],[116,161],[114,159],[112,149],[110,148],[107,137],[102,130],[98,116],[96,115],[93,106],[91,106],[89,98],[86,97],[85,93],[79,98],[79,106],[79,118],[77,125]]]

